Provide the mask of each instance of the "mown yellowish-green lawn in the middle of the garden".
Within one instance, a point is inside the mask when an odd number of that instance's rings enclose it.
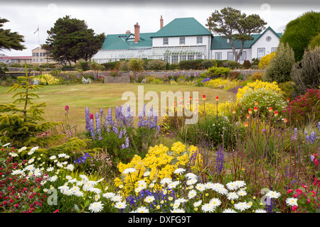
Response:
[[[206,102],[215,103],[215,97],[219,96],[219,101],[224,102],[234,97],[235,94],[225,92],[220,89],[210,89],[208,87],[194,87],[191,85],[172,84],[75,84],[75,85],[47,85],[36,93],[40,99],[35,99],[34,103],[46,102],[44,117],[48,121],[65,121],[65,105],[69,106],[69,121],[71,126],[77,126],[78,132],[85,129],[85,107],[89,107],[90,113],[95,114],[100,109],[107,113],[107,109],[120,106],[127,100],[122,100],[124,92],[134,92],[138,94],[138,86],[144,87],[146,92],[198,92],[199,103],[202,102],[203,94],[206,94]],[[15,92],[6,94],[9,87],[0,87],[0,103],[8,104]],[[16,91],[18,92],[18,91]],[[185,97],[185,99],[188,97]],[[149,100],[145,100],[147,104]]]

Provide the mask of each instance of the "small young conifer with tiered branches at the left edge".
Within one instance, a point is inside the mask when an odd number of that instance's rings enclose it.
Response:
[[[15,99],[12,104],[0,104],[0,140],[2,143],[11,143],[16,147],[41,146],[62,137],[61,135],[42,135],[51,127],[60,126],[63,122],[46,121],[41,116],[44,113],[43,107],[46,106],[46,103],[33,104],[32,100],[39,98],[39,96],[31,91],[38,90],[43,86],[31,84],[33,78],[28,76],[26,67],[26,77],[17,77],[17,83],[6,92],[21,89],[21,92],[17,92],[12,97],[18,96],[18,99]],[[16,103],[22,104],[22,108],[18,108]]]

